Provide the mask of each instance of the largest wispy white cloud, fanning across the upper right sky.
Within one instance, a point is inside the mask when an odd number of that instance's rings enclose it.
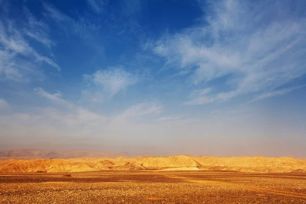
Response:
[[[299,15],[304,3],[292,4],[211,2],[203,25],[167,35],[152,50],[166,59],[166,66],[188,70],[183,73],[191,74],[196,87],[230,75],[223,84],[226,91],[198,95],[187,104],[264,93],[306,73],[306,19]]]

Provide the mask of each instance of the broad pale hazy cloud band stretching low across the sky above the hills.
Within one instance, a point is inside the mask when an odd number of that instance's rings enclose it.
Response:
[[[282,123],[270,123],[265,126],[269,119],[262,118],[262,113],[258,113],[261,118],[252,117],[253,112],[258,112],[253,109],[246,111],[241,107],[239,110],[228,108],[227,111],[215,112],[214,117],[209,115],[209,117],[201,119],[180,119],[175,116],[160,116],[162,111],[159,104],[143,103],[126,109],[117,117],[108,118],[56,97],[41,88],[36,91],[40,96],[49,100],[52,105],[48,108],[32,107],[27,111],[15,110],[8,114],[0,114],[0,137],[4,144],[19,143],[23,147],[24,144],[32,143],[32,147],[36,148],[33,143],[45,142],[48,146],[50,144],[54,146],[66,144],[66,146],[69,145],[69,148],[76,148],[75,143],[78,142],[82,145],[96,146],[147,144],[160,146],[162,141],[162,145],[168,147],[168,150],[173,147],[180,149],[179,154],[183,154],[182,149],[193,151],[196,146],[196,149],[200,150],[197,153],[192,152],[192,154],[205,155],[219,154],[219,150],[214,151],[216,145],[223,150],[225,149],[222,151],[224,154],[233,154],[233,146],[230,145],[230,148],[228,144],[234,140],[240,141],[239,144],[234,145],[235,149],[241,149],[241,147],[253,144],[258,140],[260,143],[266,142],[267,132],[270,131],[272,139],[287,137],[288,134],[291,136],[300,135],[303,139],[302,122],[298,128],[291,127],[291,129]],[[65,108],[66,106],[60,107],[58,100],[63,101],[62,104],[67,104],[71,109]],[[46,103],[44,104],[46,105]],[[13,109],[14,107],[12,107]],[[147,119],[152,118],[150,116],[159,117],[159,119]],[[221,142],[220,138],[222,138]],[[290,140],[292,138],[294,136]],[[14,141],[14,143],[10,141]],[[275,139],[269,144],[273,142]],[[289,142],[289,144],[296,145],[294,142]],[[288,146],[288,144],[286,145]],[[260,147],[261,145],[258,145],[256,149]],[[12,148],[12,146],[8,148]],[[244,150],[237,154],[247,154],[247,152]],[[159,153],[156,152],[156,154]],[[262,154],[262,152],[259,151],[258,154]],[[273,152],[273,154],[276,153]]]

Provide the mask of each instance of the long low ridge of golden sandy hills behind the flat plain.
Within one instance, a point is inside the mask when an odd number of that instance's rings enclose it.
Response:
[[[234,170],[306,172],[306,161],[290,157],[143,157],[2,160],[0,172],[80,172],[99,170]]]

